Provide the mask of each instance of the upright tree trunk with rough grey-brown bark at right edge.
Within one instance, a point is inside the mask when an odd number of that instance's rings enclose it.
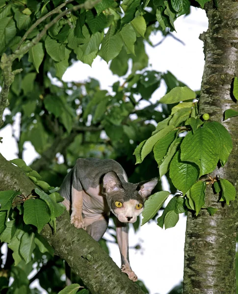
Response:
[[[209,113],[222,123],[233,139],[228,163],[217,168],[218,175],[231,181],[238,191],[238,117],[223,122],[226,109],[238,111],[231,93],[238,76],[238,1],[218,0],[218,8],[207,6],[209,28],[204,41],[200,115]],[[188,213],[185,237],[184,294],[235,294],[235,253],[238,227],[238,198],[228,206],[217,202],[211,185],[206,191],[208,206],[218,208],[210,216],[205,210],[196,217]]]

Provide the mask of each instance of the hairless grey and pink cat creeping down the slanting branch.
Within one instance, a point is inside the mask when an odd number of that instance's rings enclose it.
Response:
[[[157,182],[153,178],[132,184],[122,166],[112,159],[79,158],[59,191],[65,198],[62,203],[71,212],[71,224],[86,230],[96,241],[106,232],[110,212],[116,216],[121,270],[134,282],[137,276],[129,263],[128,223],[142,213],[144,201]]]

